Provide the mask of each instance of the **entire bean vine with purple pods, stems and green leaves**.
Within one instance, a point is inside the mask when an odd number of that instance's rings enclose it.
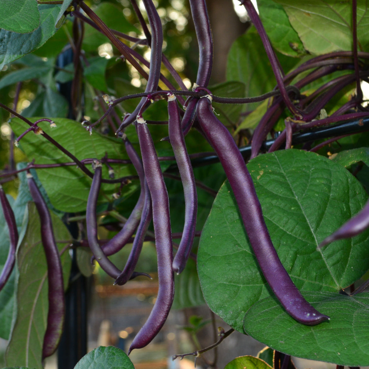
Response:
[[[242,356],[227,369],[287,368],[291,355],[369,365],[366,2],[258,0],[257,11],[240,0],[248,30],[231,46],[227,81],[214,85],[207,4],[189,0],[191,86],[169,56],[175,32],[160,1],[21,3],[0,5],[7,366],[42,368],[58,348],[70,253],[82,273],[94,264],[123,286],[151,278],[137,267],[145,241],[157,256],[151,313],[127,354],[100,347],[75,368],[133,368],[132,350],[151,344],[173,302],[184,307],[178,295],[186,307],[206,303],[231,329],[173,360],[236,330],[274,361]],[[20,107],[30,79],[33,100]],[[115,232],[100,239],[102,228]],[[197,300],[183,288],[190,280]]]

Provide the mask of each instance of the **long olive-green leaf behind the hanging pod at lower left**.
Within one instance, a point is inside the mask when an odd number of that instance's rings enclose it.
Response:
[[[6,351],[7,365],[24,365],[42,369],[42,345],[48,312],[48,280],[44,248],[41,242],[40,220],[34,203],[28,205],[28,225],[17,251],[19,269],[17,320]],[[59,252],[71,239],[62,221],[51,213]],[[67,243],[65,242],[67,241]],[[71,259],[61,255],[64,286],[68,287]]]

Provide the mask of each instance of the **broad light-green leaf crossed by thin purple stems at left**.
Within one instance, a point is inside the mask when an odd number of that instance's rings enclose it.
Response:
[[[38,118],[31,118],[32,122]],[[101,159],[107,153],[108,158],[127,159],[124,144],[116,138],[106,137],[93,131],[92,135],[86,131],[78,122],[54,118],[56,128],[50,128],[48,122],[41,122],[38,126],[59,144],[69,150],[79,160],[85,158]],[[24,132],[28,125],[15,118],[11,127],[16,136]],[[42,143],[42,145],[41,145]],[[68,156],[63,154],[58,148],[50,144],[42,135],[35,135],[33,132],[25,135],[20,141],[20,148],[27,154],[29,161],[35,159],[36,164],[51,164],[71,162]],[[115,178],[127,175],[136,175],[133,166],[112,165],[115,171]],[[87,168],[91,170],[91,165]],[[62,168],[48,168],[38,170],[38,177],[44,186],[51,203],[61,211],[77,212],[85,211],[87,197],[89,194],[91,179],[76,166],[66,166]],[[108,169],[103,167],[103,178],[108,178]],[[135,189],[136,184],[127,185],[123,189],[122,196],[129,196]],[[112,199],[111,195],[118,192],[120,184],[102,184],[101,194],[105,199]]]

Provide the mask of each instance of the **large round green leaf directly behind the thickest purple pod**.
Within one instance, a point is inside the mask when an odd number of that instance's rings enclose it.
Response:
[[[347,170],[323,156],[294,149],[259,155],[248,169],[273,245],[300,290],[339,291],[368,270],[368,231],[317,251],[317,245],[366,202],[360,183]],[[273,296],[228,182],[202,231],[197,266],[207,304],[240,332],[246,311]]]

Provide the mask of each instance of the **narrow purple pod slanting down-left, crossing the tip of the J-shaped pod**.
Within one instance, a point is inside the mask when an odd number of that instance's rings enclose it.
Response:
[[[152,218],[152,211],[151,211],[151,196],[150,191],[148,189],[146,180],[144,183],[145,188],[145,203],[144,208],[142,209],[141,221],[138,225],[137,232],[135,239],[133,241],[132,249],[130,252],[130,256],[128,256],[127,262],[125,263],[123,271],[115,280],[114,284],[118,284],[122,286],[123,284],[127,283],[128,280],[131,279],[132,273],[135,270],[137,265],[139,254],[142,250],[142,245],[144,243],[145,234]]]

